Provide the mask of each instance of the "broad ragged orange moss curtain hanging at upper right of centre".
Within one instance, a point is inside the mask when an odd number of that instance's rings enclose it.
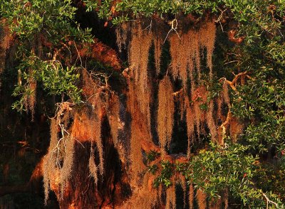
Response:
[[[190,29],[187,33],[180,34],[180,36],[173,33],[170,37],[173,77],[180,78],[185,86],[188,79],[187,70],[192,73],[192,70],[196,68],[198,77],[200,77],[201,51],[206,48],[207,67],[209,68],[209,76],[212,78],[212,53],[215,36],[216,26],[214,21],[205,21],[199,30]]]

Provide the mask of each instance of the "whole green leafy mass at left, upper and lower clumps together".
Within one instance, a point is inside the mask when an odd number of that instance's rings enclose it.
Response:
[[[33,94],[32,80],[38,81],[50,95],[62,95],[63,99],[67,95],[72,102],[80,102],[81,90],[77,84],[78,69],[82,67],[75,63],[70,67],[63,65],[55,55],[58,48],[68,48],[73,42],[93,42],[90,29],[83,30],[76,23],[77,9],[71,4],[71,0],[13,0],[0,5],[0,16],[6,19],[18,45],[16,58],[21,83],[14,90],[13,95],[20,96],[13,104],[14,109],[25,110],[26,99]],[[39,40],[44,40],[47,47],[39,45]]]

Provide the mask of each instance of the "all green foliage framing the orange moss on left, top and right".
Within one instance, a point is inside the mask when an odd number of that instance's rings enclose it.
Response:
[[[141,17],[159,17],[165,21],[192,14],[196,19],[205,14],[215,16],[224,31],[235,31],[239,43],[217,43],[214,72],[216,76],[234,77],[232,73],[247,72],[244,82],[231,93],[230,111],[244,123],[244,132],[237,144],[224,146],[210,143],[187,164],[160,161],[148,166],[148,171],[159,176],[160,184],[172,186],[175,172],[188,183],[202,188],[209,198],[218,198],[228,190],[244,205],[265,207],[264,195],[274,202],[285,200],[285,1],[140,1],[85,0],[86,11],[95,10],[99,18],[119,24]],[[78,63],[63,64],[56,58],[56,49],[68,43],[92,43],[90,29],[82,29],[75,21],[76,7],[71,0],[12,0],[1,2],[0,16],[8,21],[11,33],[17,38],[17,60],[21,82],[14,95],[21,96],[14,108],[23,110],[25,97],[32,95],[31,80],[38,81],[48,94],[67,95],[74,103],[81,101],[78,85]],[[226,23],[224,23],[226,22]],[[234,26],[229,26],[233,23]],[[180,24],[180,22],[178,22]],[[231,28],[232,27],[232,28]],[[36,53],[36,40],[44,36],[50,47],[43,54]],[[222,59],[222,60],[218,60]],[[29,72],[32,73],[29,73]],[[24,80],[22,82],[22,80]],[[209,84],[210,98],[217,96],[220,85]],[[143,95],[140,95],[143,97]],[[207,111],[207,104],[200,109]],[[263,156],[267,161],[264,163]],[[147,154],[147,163],[159,157],[155,151]]]

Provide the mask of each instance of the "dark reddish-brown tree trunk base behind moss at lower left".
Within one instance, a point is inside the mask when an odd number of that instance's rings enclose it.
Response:
[[[105,119],[102,124],[105,171],[103,176],[98,177],[97,186],[88,168],[91,142],[76,141],[72,178],[68,181],[63,196],[55,191],[61,208],[114,208],[130,195],[128,177],[122,171],[109,132],[109,124]]]

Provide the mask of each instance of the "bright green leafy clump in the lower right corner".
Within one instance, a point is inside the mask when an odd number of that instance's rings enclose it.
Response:
[[[263,191],[257,187],[257,183],[260,184],[267,179],[266,186],[269,187],[269,182],[277,178],[275,176],[272,178],[269,173],[261,173],[261,171],[268,172],[269,170],[261,166],[259,159],[248,154],[248,151],[249,146],[232,144],[232,141],[227,141],[225,146],[211,142],[209,149],[200,150],[199,154],[193,156],[187,163],[171,164],[170,161],[160,161],[162,170],[155,178],[154,187],[160,184],[166,187],[171,186],[173,183],[171,177],[174,173],[181,173],[188,184],[193,183],[195,188],[202,188],[204,193],[208,194],[209,200],[220,198],[224,192],[229,191],[233,198],[238,198],[244,205],[265,207]],[[152,165],[148,169],[152,174],[155,173],[154,170],[157,171],[157,165]],[[281,176],[284,175],[283,171],[279,173]],[[282,181],[281,176],[279,183]],[[261,181],[260,183],[256,181],[257,178]],[[279,192],[280,190],[281,188]],[[280,208],[284,207],[276,194],[269,192],[267,195],[278,203]]]

